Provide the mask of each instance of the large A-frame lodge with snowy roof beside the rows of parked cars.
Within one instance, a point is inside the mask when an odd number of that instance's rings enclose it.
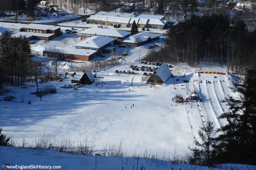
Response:
[[[151,84],[164,84],[170,77],[172,72],[167,65],[163,63],[147,80]]]

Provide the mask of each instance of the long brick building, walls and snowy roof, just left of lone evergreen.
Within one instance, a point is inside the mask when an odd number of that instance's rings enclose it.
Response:
[[[116,41],[121,42],[124,38],[129,37],[130,32],[105,28],[89,28],[80,32],[80,35],[81,40],[92,36],[104,36],[115,38]]]

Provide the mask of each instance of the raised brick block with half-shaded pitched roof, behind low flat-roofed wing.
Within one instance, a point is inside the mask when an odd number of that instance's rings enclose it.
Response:
[[[97,54],[110,53],[115,51],[114,38],[108,38],[104,36],[87,37],[81,42],[77,43],[76,48],[96,50]],[[108,48],[110,47],[110,48]]]

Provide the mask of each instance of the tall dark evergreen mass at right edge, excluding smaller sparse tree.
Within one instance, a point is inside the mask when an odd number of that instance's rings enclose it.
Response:
[[[256,71],[248,70],[245,78],[233,83],[234,92],[238,98],[229,96],[229,111],[220,115],[228,124],[220,130],[220,135],[215,148],[218,151],[219,162],[232,162],[243,164],[256,164]]]

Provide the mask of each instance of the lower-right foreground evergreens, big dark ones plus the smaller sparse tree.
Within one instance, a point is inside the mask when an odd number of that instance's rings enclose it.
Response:
[[[239,97],[228,96],[229,110],[220,115],[228,124],[214,129],[213,122],[206,122],[198,130],[200,139],[194,140],[196,148],[188,147],[193,155],[189,163],[213,166],[235,163],[256,165],[256,71],[246,70],[245,78],[234,82],[232,90]],[[217,135],[219,134],[219,135]]]

